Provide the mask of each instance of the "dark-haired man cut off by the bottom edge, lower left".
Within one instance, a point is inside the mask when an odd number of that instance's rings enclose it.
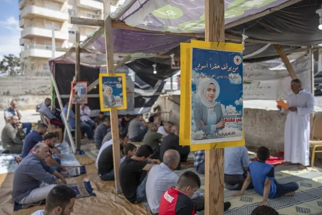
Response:
[[[44,210],[37,210],[31,215],[70,215],[74,211],[76,192],[64,184],[52,188],[47,197]]]

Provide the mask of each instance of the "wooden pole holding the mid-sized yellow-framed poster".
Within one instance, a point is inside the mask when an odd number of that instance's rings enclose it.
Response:
[[[104,2],[104,15],[107,14],[107,7],[110,5],[108,1]],[[104,17],[105,18],[105,17]],[[114,73],[114,60],[113,60],[113,35],[112,35],[112,20],[109,16],[104,21],[105,31],[105,51],[106,51],[106,71],[107,73]],[[111,134],[113,141],[113,164],[114,164],[114,183],[115,193],[121,193],[121,187],[118,180],[119,165],[120,165],[120,146],[119,146],[119,131],[118,131],[118,116],[116,110],[110,111]]]

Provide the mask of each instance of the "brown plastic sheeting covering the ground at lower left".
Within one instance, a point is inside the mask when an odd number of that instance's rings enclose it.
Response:
[[[72,214],[106,214],[106,215],[149,215],[142,204],[132,204],[123,194],[114,193],[114,181],[102,181],[97,175],[95,165],[86,166],[87,174],[68,178],[67,183],[90,181],[96,196],[76,199]],[[14,173],[0,175],[0,214],[31,214],[36,210],[44,209],[44,205],[29,207],[13,212],[11,191]]]

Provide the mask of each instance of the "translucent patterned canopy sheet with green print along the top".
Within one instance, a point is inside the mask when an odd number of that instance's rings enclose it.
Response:
[[[225,0],[225,24],[281,5],[288,0]],[[119,14],[121,9],[116,10]],[[113,13],[111,16],[114,16]],[[204,0],[138,0],[120,18],[127,25],[177,33],[205,31]]]

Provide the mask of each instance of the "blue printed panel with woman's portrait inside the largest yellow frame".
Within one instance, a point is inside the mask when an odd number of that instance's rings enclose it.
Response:
[[[191,144],[238,141],[242,52],[191,48]]]

